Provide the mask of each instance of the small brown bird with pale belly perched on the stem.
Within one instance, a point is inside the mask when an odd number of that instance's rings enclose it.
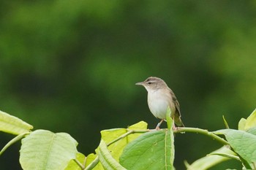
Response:
[[[148,107],[154,117],[161,120],[156,129],[159,129],[161,123],[166,119],[167,107],[170,107],[170,117],[173,118],[175,125],[184,127],[178,100],[164,80],[159,77],[148,77],[145,81],[137,82],[135,85],[143,85],[148,91]],[[175,125],[174,128],[176,128]]]

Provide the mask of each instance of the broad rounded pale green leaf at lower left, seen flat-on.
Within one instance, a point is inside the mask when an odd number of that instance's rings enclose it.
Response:
[[[77,145],[69,134],[37,130],[21,140],[20,164],[24,170],[64,169],[76,158]]]

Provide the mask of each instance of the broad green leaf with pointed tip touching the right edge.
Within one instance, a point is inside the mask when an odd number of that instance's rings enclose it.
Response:
[[[233,150],[244,160],[249,163],[256,161],[256,136],[254,134],[234,129],[219,130],[217,134],[224,134]]]

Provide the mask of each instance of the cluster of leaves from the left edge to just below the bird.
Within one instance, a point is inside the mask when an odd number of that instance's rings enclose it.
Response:
[[[169,112],[170,113],[170,112]],[[20,165],[23,169],[159,169],[173,167],[173,131],[150,131],[141,121],[129,128],[101,131],[96,154],[78,152],[78,142],[66,133],[31,131],[32,125],[0,112],[1,131],[16,134],[1,150],[21,140]],[[118,161],[119,160],[119,161]]]

